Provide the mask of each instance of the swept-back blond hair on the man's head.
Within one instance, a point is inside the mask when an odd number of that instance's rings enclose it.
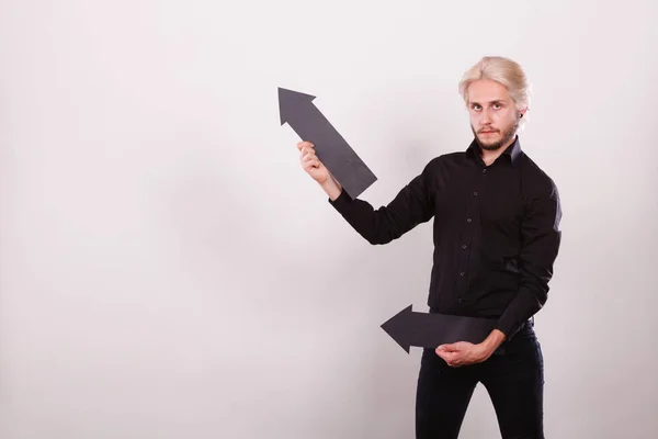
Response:
[[[485,56],[466,70],[460,81],[460,94],[468,102],[468,86],[479,79],[489,79],[504,86],[517,104],[517,110],[530,105],[530,82],[521,66],[501,56]]]

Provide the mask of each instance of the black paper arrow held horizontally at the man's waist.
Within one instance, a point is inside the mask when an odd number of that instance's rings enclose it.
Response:
[[[382,329],[407,353],[411,346],[438,348],[439,345],[456,341],[478,344],[487,338],[496,325],[496,320],[490,318],[417,313],[411,311],[411,306],[382,325]]]

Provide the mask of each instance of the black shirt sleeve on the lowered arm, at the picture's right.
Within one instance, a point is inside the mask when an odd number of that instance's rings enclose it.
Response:
[[[497,328],[511,338],[521,325],[537,313],[548,299],[548,281],[559,250],[561,205],[553,181],[547,190],[530,201],[522,221],[521,282],[506,307]]]

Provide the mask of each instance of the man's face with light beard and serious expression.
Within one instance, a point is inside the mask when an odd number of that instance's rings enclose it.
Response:
[[[468,87],[470,130],[483,149],[495,150],[510,144],[519,128],[519,111],[508,89],[499,82],[480,79]]]

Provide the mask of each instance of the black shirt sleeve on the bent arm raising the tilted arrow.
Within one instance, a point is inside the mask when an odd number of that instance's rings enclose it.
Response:
[[[378,209],[367,201],[352,199],[344,190],[329,203],[364,239],[373,245],[388,244],[434,215],[433,161]]]

